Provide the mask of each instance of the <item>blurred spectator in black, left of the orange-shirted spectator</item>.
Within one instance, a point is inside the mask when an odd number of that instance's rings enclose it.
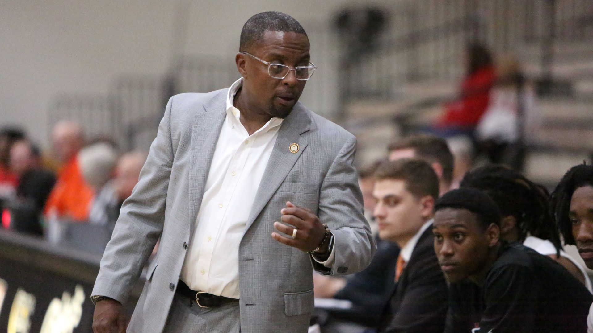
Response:
[[[29,201],[37,214],[41,214],[56,177],[43,169],[40,149],[27,140],[12,145],[10,168],[18,177],[17,200]]]

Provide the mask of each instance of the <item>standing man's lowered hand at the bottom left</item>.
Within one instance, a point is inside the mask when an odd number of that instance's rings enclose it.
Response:
[[[127,316],[122,303],[104,299],[95,305],[93,316],[94,333],[126,333]]]

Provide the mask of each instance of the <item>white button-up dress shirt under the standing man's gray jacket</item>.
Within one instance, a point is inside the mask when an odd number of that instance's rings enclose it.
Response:
[[[272,118],[249,135],[241,124],[241,111],[233,106],[242,85],[240,78],[228,91],[227,117],[181,268],[181,280],[190,289],[237,299],[239,244],[283,120]],[[314,260],[331,267],[335,254],[333,247],[330,250],[327,261]]]

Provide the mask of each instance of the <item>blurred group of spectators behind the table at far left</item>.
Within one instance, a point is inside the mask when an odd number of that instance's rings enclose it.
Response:
[[[0,130],[2,228],[102,252],[146,160],[60,121],[44,153],[24,130]]]

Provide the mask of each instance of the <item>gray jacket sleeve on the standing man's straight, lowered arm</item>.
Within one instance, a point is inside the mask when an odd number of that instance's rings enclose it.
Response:
[[[170,129],[172,107],[173,97],[167,103],[138,184],[123,203],[101,259],[92,295],[125,302],[161,235],[174,156]]]

